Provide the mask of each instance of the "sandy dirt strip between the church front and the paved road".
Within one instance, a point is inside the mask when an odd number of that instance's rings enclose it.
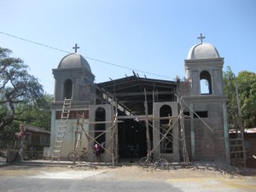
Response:
[[[31,177],[43,172],[105,172],[105,179],[148,180],[148,179],[186,179],[186,178],[256,178],[256,169],[236,168],[223,164],[197,162],[190,166],[170,166],[167,170],[143,168],[141,166],[97,166],[78,164],[75,166],[30,166],[9,165],[0,166],[0,176],[4,177]]]

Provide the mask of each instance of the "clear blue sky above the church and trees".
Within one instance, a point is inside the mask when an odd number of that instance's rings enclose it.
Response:
[[[254,0],[0,0],[0,47],[54,94],[52,69],[74,52],[95,83],[131,76],[183,79],[189,49],[212,44],[230,66],[256,73]]]

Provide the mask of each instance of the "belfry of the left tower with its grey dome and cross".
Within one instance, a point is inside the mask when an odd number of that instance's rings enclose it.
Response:
[[[77,51],[79,47],[74,47]],[[73,101],[93,102],[94,74],[90,71],[89,63],[77,53],[62,58],[58,68],[52,70],[55,78],[55,102],[65,98]]]

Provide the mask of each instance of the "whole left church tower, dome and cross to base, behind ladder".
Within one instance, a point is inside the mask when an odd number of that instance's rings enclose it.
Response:
[[[61,150],[63,157],[67,157],[67,154],[73,151],[75,146],[78,118],[82,116],[84,122],[89,121],[89,106],[96,100],[95,76],[91,73],[89,63],[77,53],[77,49],[79,49],[77,44],[73,49],[75,49],[75,53],[64,56],[58,67],[52,69],[55,78],[55,101],[51,103],[51,147],[54,145],[58,133],[63,102],[65,98],[71,99],[65,142],[63,142]],[[89,130],[88,124],[84,124],[84,130]],[[85,137],[81,140],[81,146],[88,145]]]

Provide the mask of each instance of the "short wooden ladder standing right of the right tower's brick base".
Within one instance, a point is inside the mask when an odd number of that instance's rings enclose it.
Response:
[[[247,165],[247,155],[244,145],[243,131],[236,131],[236,138],[230,138],[230,163],[233,166]]]

